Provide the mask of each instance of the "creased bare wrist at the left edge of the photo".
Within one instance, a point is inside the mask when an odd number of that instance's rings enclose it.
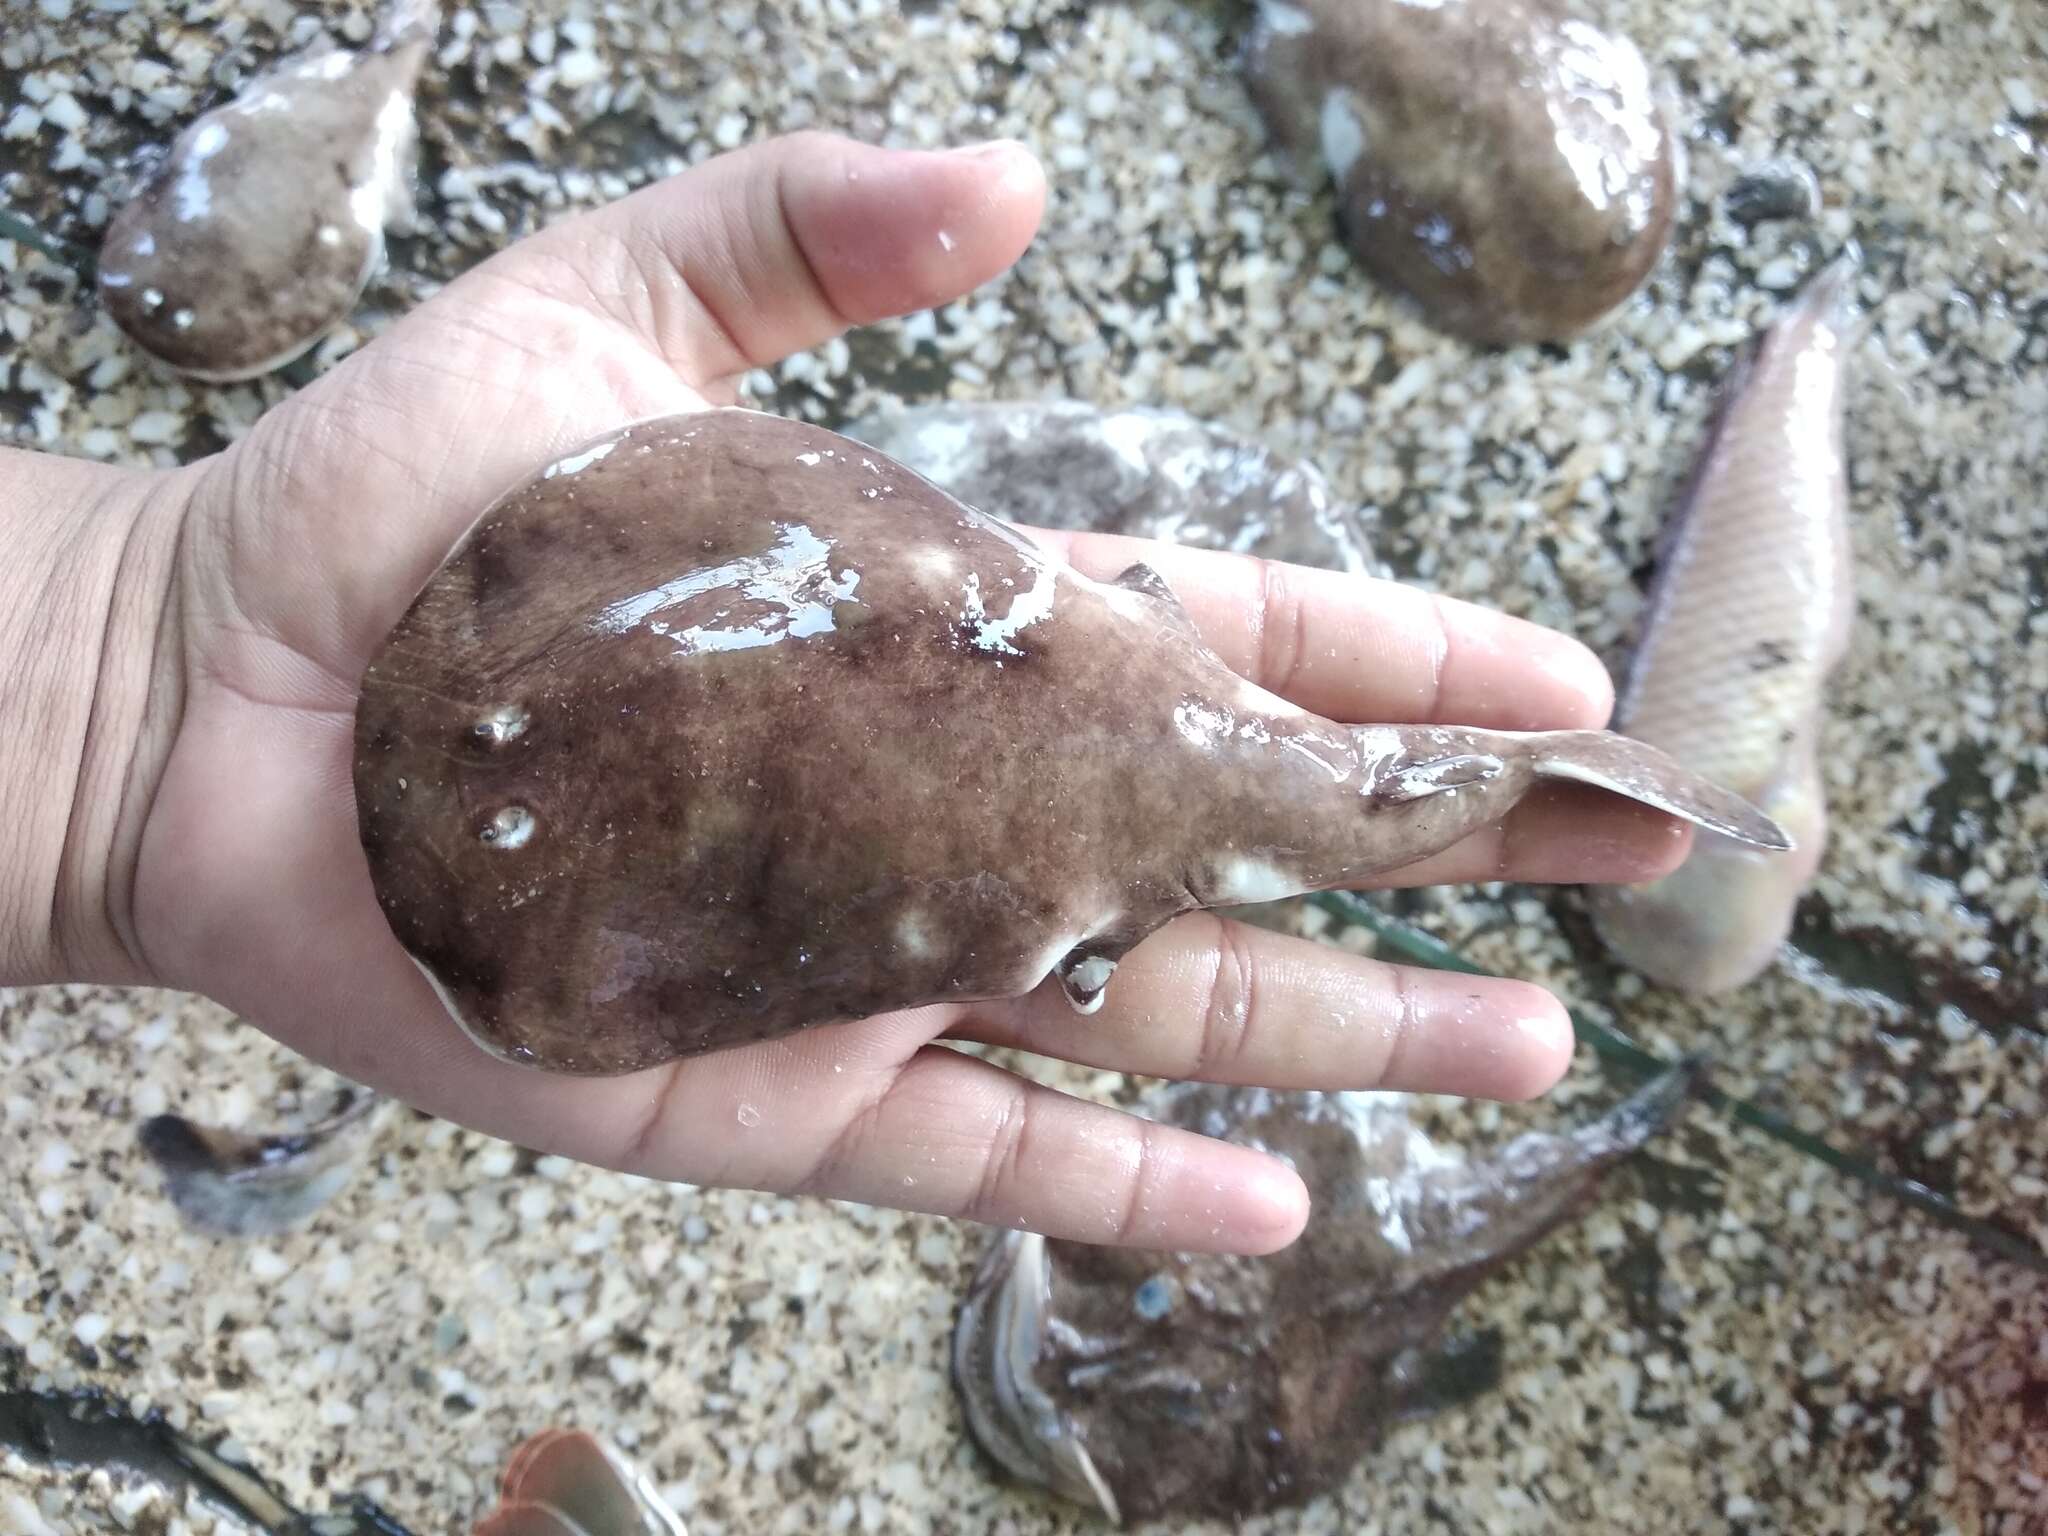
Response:
[[[0,451],[0,985],[147,981],[135,854],[184,707],[186,475]]]

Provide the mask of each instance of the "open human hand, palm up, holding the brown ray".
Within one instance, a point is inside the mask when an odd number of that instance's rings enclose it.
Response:
[[[1270,1087],[1544,1090],[1571,1028],[1542,989],[1206,913],[1124,958],[1085,1022],[1040,993],[600,1079],[487,1057],[385,926],[356,842],[356,688],[471,520],[625,420],[725,403],[748,369],[967,293],[1018,258],[1042,201],[1014,145],[928,156],[797,135],[723,156],[512,246],[227,453],[152,481],[137,526],[141,549],[168,549],[141,561],[145,575],[162,565],[158,623],[125,629],[158,643],[129,668],[147,682],[121,715],[131,729],[104,731],[131,743],[125,788],[119,813],[84,823],[106,823],[104,846],[66,848],[68,868],[102,872],[90,885],[106,932],[63,952],[205,991],[360,1083],[528,1147],[1143,1247],[1268,1251],[1298,1233],[1307,1194],[1262,1153],[1053,1094],[940,1040]],[[1098,578],[1143,557],[1225,662],[1339,721],[1591,727],[1612,705],[1583,647],[1481,608],[1245,557],[1036,537]],[[102,793],[109,778],[80,774]],[[1399,881],[1640,881],[1686,848],[1651,811],[1544,791]]]

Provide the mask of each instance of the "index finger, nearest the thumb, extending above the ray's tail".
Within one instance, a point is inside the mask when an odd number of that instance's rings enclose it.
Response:
[[[1585,645],[1475,602],[1151,539],[1026,532],[1102,582],[1151,565],[1225,666],[1346,725],[1567,731],[1614,711],[1608,670]]]

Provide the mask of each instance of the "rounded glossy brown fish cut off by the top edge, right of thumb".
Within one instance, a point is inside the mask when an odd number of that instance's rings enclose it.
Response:
[[[1642,57],[1559,0],[1264,0],[1245,72],[1335,176],[1358,260],[1458,336],[1577,336],[1671,236]]]

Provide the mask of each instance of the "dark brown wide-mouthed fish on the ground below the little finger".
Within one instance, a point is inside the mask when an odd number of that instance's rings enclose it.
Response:
[[[1110,1520],[1243,1518],[1337,1487],[1432,1407],[1452,1309],[1677,1112],[1688,1071],[1571,1135],[1458,1161],[1393,1094],[1190,1085],[1159,1118],[1288,1157],[1315,1214],[1270,1257],[1004,1233],[954,1331],[975,1440]]]

